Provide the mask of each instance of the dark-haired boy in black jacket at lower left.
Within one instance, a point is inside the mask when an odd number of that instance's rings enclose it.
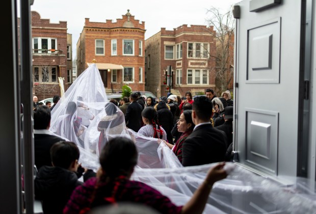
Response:
[[[51,146],[52,166],[41,167],[34,181],[35,198],[42,201],[44,214],[63,213],[72,191],[82,185],[76,174],[79,157],[79,149],[73,142],[60,141]],[[88,171],[84,180],[95,175]]]

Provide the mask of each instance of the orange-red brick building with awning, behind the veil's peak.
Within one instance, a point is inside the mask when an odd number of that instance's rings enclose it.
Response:
[[[121,19],[90,22],[77,42],[77,76],[96,59],[105,88],[121,90],[128,83],[133,90],[144,90],[145,22],[140,23],[129,13]]]

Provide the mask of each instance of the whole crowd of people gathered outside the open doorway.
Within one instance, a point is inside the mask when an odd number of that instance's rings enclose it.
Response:
[[[137,147],[137,142],[146,139],[156,139],[156,147],[165,144],[183,166],[224,161],[231,138],[213,123],[215,113],[225,117],[220,114],[223,109],[213,108],[207,94],[193,99],[190,91],[182,99],[169,94],[157,101],[138,92],[120,103],[104,102],[106,95],[99,94],[98,102],[74,94],[65,94],[59,102],[61,98],[55,96],[51,107],[39,105],[36,96],[33,99],[35,165],[39,170],[35,196],[42,201],[44,213],[86,213],[120,201],[143,203],[162,213],[201,213],[214,182],[227,176],[224,164],[210,169],[191,200],[181,206],[129,178],[138,162],[150,162],[150,153]],[[97,172],[79,163],[84,151],[99,157]]]

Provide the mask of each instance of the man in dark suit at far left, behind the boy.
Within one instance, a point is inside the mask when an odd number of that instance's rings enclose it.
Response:
[[[50,147],[59,141],[66,140],[52,132],[50,126],[50,110],[47,106],[37,107],[34,113],[34,151],[37,169],[51,166]],[[69,141],[69,140],[68,140]]]

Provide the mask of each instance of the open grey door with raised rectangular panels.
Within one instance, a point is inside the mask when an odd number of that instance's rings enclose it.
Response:
[[[236,19],[235,150],[240,164],[269,175],[297,173],[301,1]]]

